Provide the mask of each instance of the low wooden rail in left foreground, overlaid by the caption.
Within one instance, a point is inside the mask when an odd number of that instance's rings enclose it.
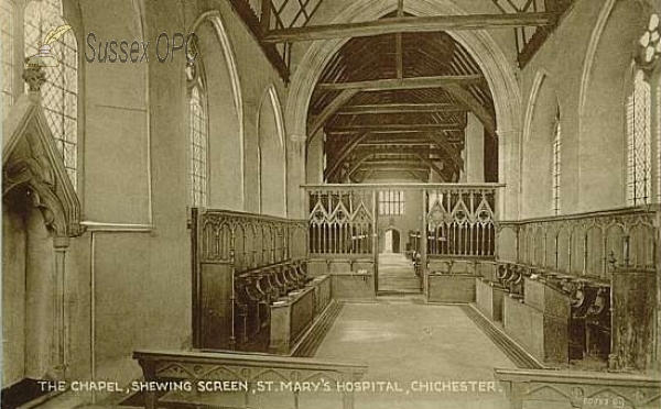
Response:
[[[151,385],[145,394],[147,409],[159,408],[160,398],[171,400],[164,402],[167,407],[210,407],[210,401],[213,407],[224,408],[351,409],[354,388],[344,386],[360,380],[367,372],[367,366],[357,364],[210,351],[136,351],[133,358],[147,383],[175,389],[161,398],[162,393]],[[306,393],[313,384],[318,393]],[[208,394],[209,388],[217,393]]]

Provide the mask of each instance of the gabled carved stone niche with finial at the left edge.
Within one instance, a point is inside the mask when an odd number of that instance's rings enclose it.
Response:
[[[33,71],[34,75],[34,71]],[[65,253],[82,233],[80,204],[41,107],[40,81],[15,107],[2,148],[3,387],[66,375]],[[11,244],[10,244],[11,243]]]

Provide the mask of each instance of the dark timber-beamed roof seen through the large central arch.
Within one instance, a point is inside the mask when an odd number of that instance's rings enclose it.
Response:
[[[308,124],[326,135],[328,183],[456,181],[468,112],[495,140],[491,93],[466,48],[444,32],[398,33],[351,38],[333,56]]]

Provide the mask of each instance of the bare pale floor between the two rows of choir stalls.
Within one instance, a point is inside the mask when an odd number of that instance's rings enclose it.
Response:
[[[498,385],[497,391],[483,393],[413,390],[420,385],[415,382],[436,383],[441,390],[442,382],[492,382],[494,367],[516,365],[460,307],[421,305],[414,297],[407,298],[345,303],[315,354],[321,360],[365,363],[368,372],[362,380],[397,382],[403,390],[357,393],[356,408],[508,408]]]

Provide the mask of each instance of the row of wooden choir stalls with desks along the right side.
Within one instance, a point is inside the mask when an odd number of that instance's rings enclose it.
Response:
[[[610,352],[610,285],[514,263],[476,283],[477,307],[548,364]]]

